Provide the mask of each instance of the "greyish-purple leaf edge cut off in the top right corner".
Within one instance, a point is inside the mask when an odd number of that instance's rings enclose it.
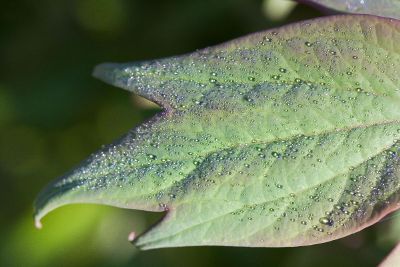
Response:
[[[346,13],[400,19],[400,1],[398,0],[297,0],[297,2]]]

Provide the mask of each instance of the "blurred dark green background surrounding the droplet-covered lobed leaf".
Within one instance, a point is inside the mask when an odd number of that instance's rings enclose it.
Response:
[[[396,215],[311,247],[152,251],[127,236],[162,214],[72,205],[40,231],[32,220],[46,183],[159,110],[92,78],[96,64],[182,54],[321,15],[286,0],[1,1],[0,266],[375,266],[400,233]]]

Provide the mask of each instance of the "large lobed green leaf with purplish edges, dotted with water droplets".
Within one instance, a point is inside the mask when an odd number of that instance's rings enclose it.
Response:
[[[164,110],[49,185],[36,221],[70,203],[166,211],[142,249],[359,231],[398,208],[399,43],[398,21],[334,16],[100,65],[96,77]]]

